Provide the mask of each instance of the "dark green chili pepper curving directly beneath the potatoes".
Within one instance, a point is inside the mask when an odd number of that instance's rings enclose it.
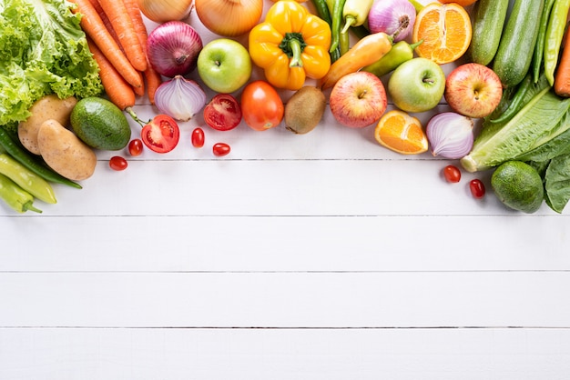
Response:
[[[51,168],[40,163],[30,155],[22,145],[16,144],[8,132],[0,126],[0,145],[5,149],[6,153],[11,155],[16,161],[24,165],[26,168],[41,176],[46,181],[54,182],[56,184],[68,185],[77,189],[82,188],[81,185],[74,181],[67,179],[63,175],[59,175]]]

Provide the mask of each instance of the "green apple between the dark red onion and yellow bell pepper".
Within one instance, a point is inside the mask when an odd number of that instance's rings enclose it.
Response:
[[[248,49],[229,38],[214,39],[205,45],[197,65],[202,82],[222,94],[239,90],[249,81],[252,70]]]

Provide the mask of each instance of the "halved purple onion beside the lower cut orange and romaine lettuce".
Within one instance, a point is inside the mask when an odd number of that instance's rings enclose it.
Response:
[[[457,159],[473,148],[473,119],[454,112],[433,115],[425,127],[432,155]]]

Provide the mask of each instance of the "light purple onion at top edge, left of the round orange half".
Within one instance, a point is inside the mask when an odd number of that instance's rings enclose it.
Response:
[[[412,33],[415,8],[408,0],[375,0],[368,13],[368,27],[372,33],[392,35],[394,42],[402,41]]]

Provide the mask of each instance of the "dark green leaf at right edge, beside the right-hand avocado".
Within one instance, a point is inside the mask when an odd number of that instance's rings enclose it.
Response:
[[[562,213],[570,199],[570,155],[558,155],[545,173],[545,201],[556,213]]]

